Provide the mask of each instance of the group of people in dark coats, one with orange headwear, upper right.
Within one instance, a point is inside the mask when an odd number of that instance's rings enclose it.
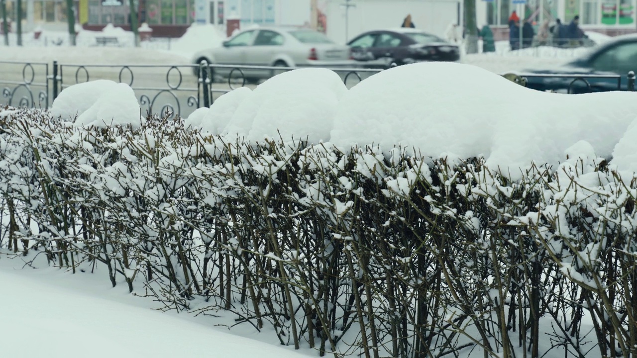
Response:
[[[522,36],[520,36],[520,31]],[[520,38],[522,39],[520,43]],[[520,28],[520,18],[513,11],[509,17],[509,43],[512,50],[534,46],[556,47],[580,47],[584,45],[586,38],[580,29],[580,17],[576,15],[568,25],[563,25],[558,18],[555,24],[550,25],[550,20],[544,20],[535,33],[531,19],[527,19]]]

